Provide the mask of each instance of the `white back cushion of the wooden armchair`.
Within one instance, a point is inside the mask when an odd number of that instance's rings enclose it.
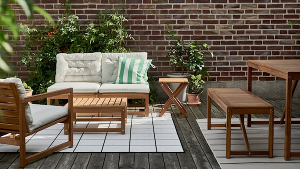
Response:
[[[17,90],[19,92],[20,97],[25,97],[26,96],[26,91],[25,91],[25,87],[22,83],[22,80],[17,78],[17,77],[7,77],[5,79],[1,79],[1,82],[14,82],[16,83],[16,87]],[[32,119],[32,115],[31,115],[31,110],[30,110],[30,106],[28,105],[28,103],[25,103],[25,116],[26,116],[26,120],[28,124],[31,124],[33,122]]]

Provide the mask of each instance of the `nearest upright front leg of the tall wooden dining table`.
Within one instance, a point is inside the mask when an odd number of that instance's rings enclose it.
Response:
[[[290,160],[290,130],[291,130],[291,83],[288,75],[285,88],[285,140],[284,140],[284,159]]]

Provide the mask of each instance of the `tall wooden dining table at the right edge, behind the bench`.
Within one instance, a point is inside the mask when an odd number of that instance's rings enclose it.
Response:
[[[300,80],[300,59],[270,59],[270,60],[248,60],[247,89],[252,90],[252,70],[257,69],[269,74],[281,77],[285,82],[285,108],[282,112],[280,121],[274,121],[274,124],[285,123],[284,138],[284,159],[290,160],[290,157],[300,157],[300,152],[291,152],[291,103],[292,95],[295,91],[298,80]],[[285,119],[284,119],[285,118]],[[285,121],[283,121],[285,120]],[[248,116],[247,125],[250,126],[250,116]]]

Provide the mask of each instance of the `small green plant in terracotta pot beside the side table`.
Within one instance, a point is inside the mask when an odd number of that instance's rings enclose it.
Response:
[[[188,82],[191,92],[187,93],[187,104],[188,105],[199,105],[200,102],[200,94],[204,91],[205,81],[201,78],[201,74],[191,75],[190,81]]]

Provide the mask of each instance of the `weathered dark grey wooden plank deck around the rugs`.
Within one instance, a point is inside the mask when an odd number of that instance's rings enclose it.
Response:
[[[26,168],[220,168],[196,122],[206,118],[206,96],[199,106],[183,103],[188,117],[180,115],[174,104],[172,112],[184,152],[180,153],[53,153],[26,165]],[[274,105],[274,116],[280,117],[284,99],[264,98]],[[300,118],[300,98],[293,98],[292,117]],[[150,113],[158,112],[162,104],[150,105]],[[212,118],[225,118],[225,113],[212,102]],[[265,117],[257,114],[257,117]],[[0,153],[0,168],[19,168],[18,153]]]

